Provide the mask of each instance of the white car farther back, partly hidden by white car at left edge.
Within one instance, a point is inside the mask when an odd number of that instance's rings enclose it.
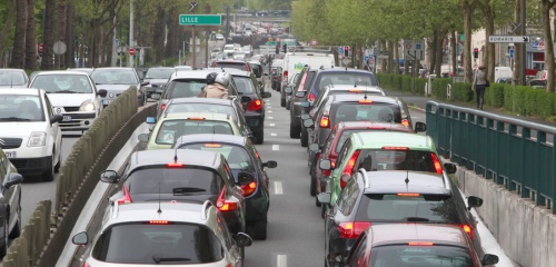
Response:
[[[43,89],[51,101],[50,109],[62,116],[62,130],[86,131],[98,118],[107,90],[97,90],[91,78],[81,71],[41,71],[30,88]]]

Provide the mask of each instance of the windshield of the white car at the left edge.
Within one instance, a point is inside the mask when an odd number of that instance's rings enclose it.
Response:
[[[0,122],[44,121],[44,112],[38,96],[0,95]]]

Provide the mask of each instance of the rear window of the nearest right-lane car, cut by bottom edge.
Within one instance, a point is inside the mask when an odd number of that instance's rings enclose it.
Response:
[[[423,244],[428,246],[399,244],[374,247],[368,266],[474,266],[467,248],[434,244],[428,240]]]

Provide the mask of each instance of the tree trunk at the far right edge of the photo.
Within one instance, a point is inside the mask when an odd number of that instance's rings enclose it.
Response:
[[[554,92],[554,43],[550,32],[550,9],[556,4],[549,0],[543,0],[543,32],[545,34],[545,69],[548,75],[546,77],[546,91]]]

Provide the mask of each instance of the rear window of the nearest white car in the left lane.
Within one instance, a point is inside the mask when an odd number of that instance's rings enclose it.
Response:
[[[110,264],[193,265],[220,261],[224,251],[221,241],[206,226],[140,221],[107,228],[91,256]]]

